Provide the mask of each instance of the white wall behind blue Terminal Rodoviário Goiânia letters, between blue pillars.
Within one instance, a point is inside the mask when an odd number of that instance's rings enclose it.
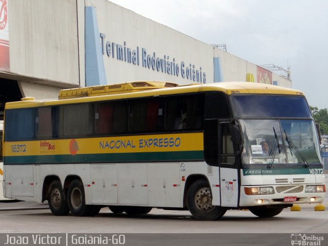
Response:
[[[186,67],[206,73],[206,81],[213,81],[213,48],[199,40],[163,26],[146,17],[138,15],[109,1],[86,0],[87,6],[95,7],[98,28],[106,35],[105,43],[119,44],[136,50],[139,47],[139,65],[117,60],[103,55],[107,83],[115,84],[132,80],[166,80],[178,84],[191,84],[195,81],[181,76],[181,61]],[[179,75],[157,72],[152,68],[142,67],[142,48],[147,55],[164,59],[178,65]],[[168,58],[169,56],[169,58]],[[185,68],[186,68],[185,67]]]

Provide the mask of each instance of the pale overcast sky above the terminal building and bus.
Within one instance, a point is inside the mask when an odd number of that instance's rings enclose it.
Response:
[[[328,108],[326,0],[111,0],[256,65],[291,68],[292,87]],[[279,73],[276,71],[275,73]]]

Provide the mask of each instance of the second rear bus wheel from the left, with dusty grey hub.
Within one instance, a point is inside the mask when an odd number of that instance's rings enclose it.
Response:
[[[83,183],[74,179],[68,187],[68,207],[75,216],[88,216],[91,206],[86,205]]]

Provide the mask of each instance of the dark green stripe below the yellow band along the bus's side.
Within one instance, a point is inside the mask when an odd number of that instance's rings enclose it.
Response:
[[[190,161],[203,159],[203,151],[172,151],[147,153],[4,156],[4,164]]]

